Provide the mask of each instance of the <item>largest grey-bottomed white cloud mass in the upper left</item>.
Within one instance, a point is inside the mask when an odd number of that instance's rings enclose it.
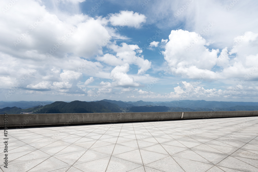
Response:
[[[0,5],[4,5],[4,2],[1,1]],[[26,20],[21,21],[16,16]],[[62,58],[66,53],[90,58],[102,54],[102,47],[112,38],[110,35],[117,35],[101,19],[84,14],[71,14],[63,18],[32,0],[13,5],[0,17],[6,19],[0,21],[4,26],[0,31],[5,33],[1,36],[0,51],[23,59]]]

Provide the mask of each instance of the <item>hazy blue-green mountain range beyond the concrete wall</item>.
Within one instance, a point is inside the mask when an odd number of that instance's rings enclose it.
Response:
[[[14,105],[14,106],[12,106]],[[107,112],[187,112],[258,110],[258,102],[218,102],[182,100],[170,102],[123,102],[115,100],[85,101],[20,101],[0,102],[0,113],[107,113]],[[25,108],[24,108],[25,107]]]

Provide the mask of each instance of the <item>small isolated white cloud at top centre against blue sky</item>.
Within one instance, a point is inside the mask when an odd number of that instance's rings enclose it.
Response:
[[[146,22],[146,17],[133,11],[120,11],[119,13],[110,14],[109,21],[113,26],[140,28],[141,24]]]

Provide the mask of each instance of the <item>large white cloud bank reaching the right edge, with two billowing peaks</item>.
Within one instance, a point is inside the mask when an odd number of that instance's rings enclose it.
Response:
[[[245,32],[244,36],[234,38],[231,51],[225,47],[220,52],[207,48],[209,42],[195,32],[172,30],[163,55],[174,75],[190,79],[244,78],[258,65],[258,50],[254,46],[257,38],[257,34]],[[236,57],[230,58],[233,53]],[[214,70],[216,66],[221,70]]]

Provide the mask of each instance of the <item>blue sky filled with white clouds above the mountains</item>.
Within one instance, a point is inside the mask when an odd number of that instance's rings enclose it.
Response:
[[[0,101],[258,102],[258,1],[0,7]]]

